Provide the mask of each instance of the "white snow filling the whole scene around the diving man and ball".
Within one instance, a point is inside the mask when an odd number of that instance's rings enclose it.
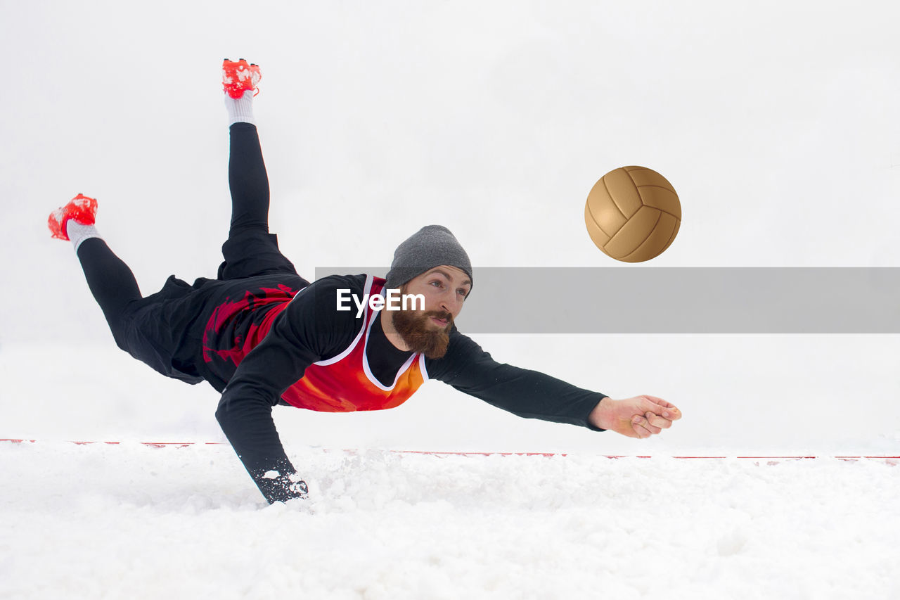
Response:
[[[386,266],[428,223],[478,266],[616,266],[582,210],[623,165],[680,194],[654,267],[900,267],[895,2],[3,14],[0,438],[37,441],[0,443],[0,597],[900,597],[896,466],[670,458],[900,454],[900,336],[477,336],[502,361],[660,395],[684,419],[632,441],[437,383],[381,414],[277,410],[312,498],[270,507],[227,445],[139,443],[221,441],[217,396],[116,350],[44,225],[94,195],[145,292],[214,276],[229,56],[263,67],[273,230],[302,274]],[[605,318],[600,299],[586,317]]]

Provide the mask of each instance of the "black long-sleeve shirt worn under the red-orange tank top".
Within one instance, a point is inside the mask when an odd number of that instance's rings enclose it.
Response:
[[[264,284],[260,287],[275,288],[270,282]],[[210,357],[207,353],[206,360],[195,362],[203,377],[222,392],[216,418],[269,502],[297,495],[290,485],[290,476],[296,471],[284,453],[272,408],[285,404],[281,396],[307,367],[337,356],[354,341],[364,320],[356,318],[356,310],[336,310],[336,295],[338,289],[349,289],[362,297],[364,286],[365,275],[324,277],[297,295],[275,317],[266,337],[240,360],[237,368],[227,353],[226,358],[215,353]],[[234,345],[241,343],[246,330],[259,322],[269,306],[260,305],[250,318],[228,331],[229,336],[238,338]],[[209,343],[204,344],[207,350],[208,346]],[[374,377],[390,385],[411,354],[397,349],[387,339],[376,318],[366,347]],[[518,416],[592,429],[596,428],[588,423],[588,415],[606,397],[544,373],[499,363],[455,327],[446,355],[426,359],[426,368],[429,378]]]

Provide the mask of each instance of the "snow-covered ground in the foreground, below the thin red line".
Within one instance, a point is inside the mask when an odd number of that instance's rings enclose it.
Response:
[[[261,508],[228,446],[4,444],[0,597],[900,595],[884,461],[291,454]]]

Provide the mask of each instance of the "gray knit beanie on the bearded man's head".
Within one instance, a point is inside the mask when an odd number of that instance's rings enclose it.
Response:
[[[426,225],[394,250],[386,285],[389,289],[399,288],[429,268],[440,265],[462,269],[472,278],[472,262],[454,234],[442,225]]]

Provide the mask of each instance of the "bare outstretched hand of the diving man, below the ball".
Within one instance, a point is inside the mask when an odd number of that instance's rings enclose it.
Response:
[[[621,433],[629,438],[649,438],[669,429],[681,418],[675,405],[655,395],[635,395],[625,400],[603,398],[590,412],[588,421],[600,429]]]

